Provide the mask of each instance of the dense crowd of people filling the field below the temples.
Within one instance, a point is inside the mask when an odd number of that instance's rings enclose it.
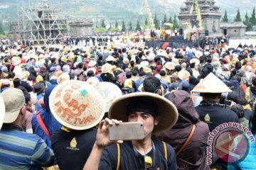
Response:
[[[256,135],[256,45],[1,45],[0,169],[256,169],[256,145],[206,164],[208,135]],[[142,122],[143,140],[111,141]]]

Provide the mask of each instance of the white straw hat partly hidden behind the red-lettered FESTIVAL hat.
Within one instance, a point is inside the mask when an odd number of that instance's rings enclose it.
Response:
[[[105,112],[108,112],[112,103],[122,96],[122,91],[119,87],[110,82],[100,82],[96,89],[100,91],[105,101]]]

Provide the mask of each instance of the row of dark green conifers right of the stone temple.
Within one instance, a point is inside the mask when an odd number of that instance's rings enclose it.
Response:
[[[224,17],[223,17],[223,22],[228,22],[230,21],[228,19],[228,13],[227,13],[227,10],[225,10],[225,14],[224,14]],[[255,7],[253,7],[253,10],[252,10],[252,15],[251,16],[248,16],[248,13],[246,11],[246,14],[245,14],[245,18],[242,20],[241,18],[241,14],[240,14],[240,11],[239,11],[239,8],[238,8],[238,13],[236,14],[235,18],[233,19],[233,21],[235,22],[242,22],[245,24],[245,26],[247,26],[246,30],[247,31],[251,31],[253,30],[253,26],[256,26],[256,18],[255,18]]]

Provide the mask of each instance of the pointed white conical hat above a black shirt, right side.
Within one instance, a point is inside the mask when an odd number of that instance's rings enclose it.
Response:
[[[225,92],[231,92],[223,81],[218,79],[213,73],[208,74],[191,92],[197,93],[208,93],[208,94],[219,94]]]

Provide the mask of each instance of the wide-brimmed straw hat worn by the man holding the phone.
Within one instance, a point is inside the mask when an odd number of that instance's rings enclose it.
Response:
[[[159,124],[154,127],[153,132],[162,132],[168,130],[176,124],[178,119],[178,111],[171,101],[167,100],[163,96],[153,94],[149,92],[137,92],[132,94],[126,94],[120,98],[117,98],[109,110],[109,118],[122,120],[127,122],[127,106],[132,98],[147,98],[157,103]]]

